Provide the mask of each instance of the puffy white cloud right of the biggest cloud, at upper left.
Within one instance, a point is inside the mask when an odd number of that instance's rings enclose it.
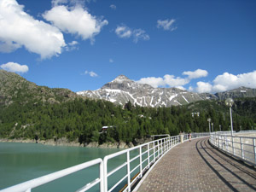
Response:
[[[101,32],[102,26],[108,25],[108,20],[90,15],[79,4],[72,8],[57,5],[46,11],[43,17],[61,29],[62,32],[78,35],[84,40],[90,39],[91,43],[94,42],[94,37]]]

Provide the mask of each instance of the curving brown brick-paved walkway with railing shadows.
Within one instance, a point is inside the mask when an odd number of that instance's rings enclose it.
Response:
[[[218,152],[208,138],[172,148],[137,192],[256,191],[256,169]]]

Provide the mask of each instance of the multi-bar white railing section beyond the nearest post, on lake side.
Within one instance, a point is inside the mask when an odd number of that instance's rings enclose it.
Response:
[[[196,137],[207,137],[209,133],[192,133],[191,138]],[[143,173],[146,172],[150,166],[157,163],[160,157],[177,144],[188,141],[189,134],[182,134],[174,137],[166,137],[159,140],[154,140],[149,143],[144,143],[134,148],[128,148],[115,154],[109,154],[105,156],[104,162],[104,191],[111,192],[116,189],[120,183],[125,183],[123,191],[131,191],[133,183],[136,183],[138,179],[143,177]],[[135,152],[131,157],[132,152]],[[136,153],[137,152],[137,153]],[[118,166],[115,166],[112,170],[108,170],[108,160],[119,157],[121,155],[126,156],[126,161]],[[144,156],[143,156],[144,155]],[[135,165],[132,165],[137,160]],[[132,165],[132,167],[131,167]],[[118,181],[114,182],[113,185],[109,184],[108,177],[111,177],[115,172],[119,172],[125,168],[125,175],[119,178]],[[125,182],[126,181],[126,182]]]

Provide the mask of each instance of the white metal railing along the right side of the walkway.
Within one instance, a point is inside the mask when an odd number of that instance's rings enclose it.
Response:
[[[242,131],[242,133],[248,132],[251,131]],[[213,132],[211,133],[210,143],[225,153],[256,166],[256,137],[232,137],[230,131]]]

